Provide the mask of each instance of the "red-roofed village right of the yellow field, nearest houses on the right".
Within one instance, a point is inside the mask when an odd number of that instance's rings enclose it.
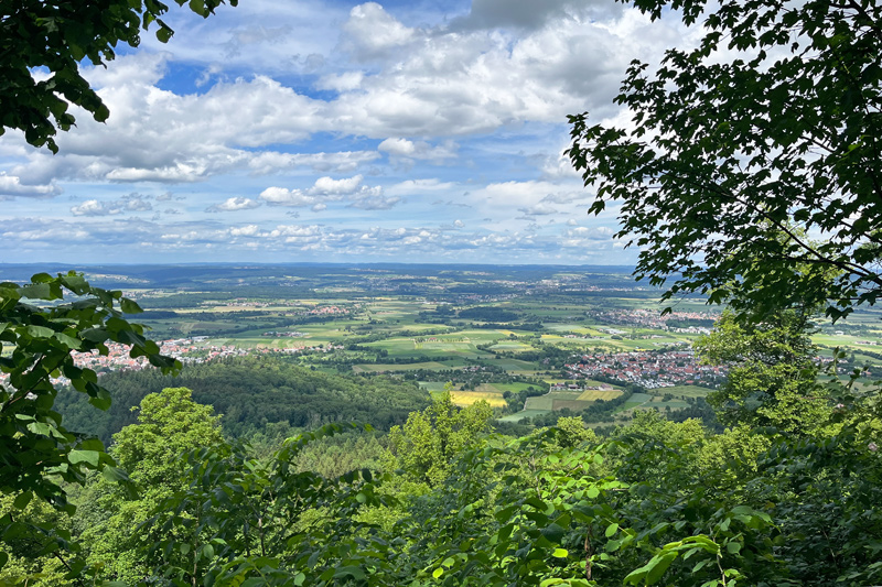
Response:
[[[724,367],[701,365],[691,350],[582,355],[564,368],[572,379],[604,377],[646,389],[716,384],[727,374]]]

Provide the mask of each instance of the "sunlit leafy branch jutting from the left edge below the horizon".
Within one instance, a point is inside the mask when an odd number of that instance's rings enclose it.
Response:
[[[65,292],[73,294],[72,302],[63,303]],[[0,283],[0,350],[8,349],[0,357],[0,370],[8,374],[0,385],[3,493],[35,494],[64,507],[61,481],[82,482],[89,469],[125,479],[99,441],[68,432],[53,410],[54,381],[61,377],[87,394],[93,405],[103,410],[110,405],[110,394],[95,371],[77,367],[74,360],[75,352],[107,355],[107,341],[129,346],[130,357],[146,357],[163,371],[181,368],[144,338],[142,326],[126,320],[123,312],[141,308],[121,292],[90,286],[75,272],[55,278],[40,273],[22,286]]]

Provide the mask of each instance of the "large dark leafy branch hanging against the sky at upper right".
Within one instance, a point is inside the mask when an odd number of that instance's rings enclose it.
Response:
[[[653,19],[667,2],[637,0]],[[590,213],[621,203],[636,273],[765,315],[882,295],[882,7],[675,2],[695,50],[634,62],[616,101],[632,129],[570,118]],[[730,58],[729,55],[734,55]],[[809,238],[810,237],[810,238]],[[814,242],[819,239],[820,242]],[[739,301],[741,298],[741,302]]]

